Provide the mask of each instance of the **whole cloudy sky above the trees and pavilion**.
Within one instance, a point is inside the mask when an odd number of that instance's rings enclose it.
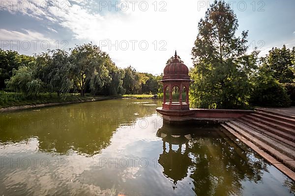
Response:
[[[92,42],[118,67],[160,74],[178,55],[192,66],[198,22],[213,0],[0,0],[0,48],[32,55]],[[295,46],[295,0],[226,0],[249,52]]]

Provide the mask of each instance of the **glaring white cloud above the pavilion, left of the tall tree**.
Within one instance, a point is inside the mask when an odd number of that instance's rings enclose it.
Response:
[[[89,9],[85,6],[87,3],[81,4],[80,0],[75,0],[77,4],[62,1],[66,2],[65,8],[61,6],[61,0],[55,2],[59,9],[50,7],[44,11],[39,2],[35,12],[23,11],[23,14],[39,20],[46,18],[70,29],[77,39],[76,44],[92,41],[99,45],[106,41],[108,46],[102,49],[110,53],[118,66],[131,65],[138,71],[149,73],[161,73],[175,50],[186,65],[192,65],[190,54],[198,33],[197,25],[206,11],[206,7],[198,11],[198,1],[195,0],[169,0],[166,4],[149,0],[145,1],[148,2],[147,11],[141,10],[145,5],[141,4],[140,7],[140,1],[136,4],[128,1],[128,10],[119,12],[115,12],[115,8],[111,8],[113,11],[104,8],[102,12],[98,7]],[[157,3],[156,7],[154,2]],[[167,11],[159,11],[160,8]],[[135,48],[132,49],[135,41]],[[118,49],[116,46],[109,48],[109,44],[116,43]],[[129,48],[124,50],[126,43]],[[145,43],[148,43],[147,50],[141,49],[145,48]],[[160,50],[160,47],[166,50]]]

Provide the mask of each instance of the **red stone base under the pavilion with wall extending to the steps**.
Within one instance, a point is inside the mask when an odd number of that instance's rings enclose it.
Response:
[[[231,119],[237,119],[244,115],[253,113],[254,110],[224,110],[224,109],[188,109],[188,110],[167,110],[163,107],[156,109],[163,115],[165,123],[198,123],[215,124]]]

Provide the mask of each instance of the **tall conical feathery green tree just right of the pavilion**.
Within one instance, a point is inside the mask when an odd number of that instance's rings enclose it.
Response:
[[[236,37],[238,20],[230,5],[215,0],[199,22],[192,49],[195,80],[190,96],[201,108],[241,108],[251,89],[249,76],[255,70],[257,52],[246,55],[248,31]]]

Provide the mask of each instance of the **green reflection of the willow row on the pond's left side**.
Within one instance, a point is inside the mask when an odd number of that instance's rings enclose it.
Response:
[[[154,113],[156,106],[146,102],[157,104],[151,100],[117,99],[5,114],[1,116],[0,142],[18,143],[37,137],[41,151],[67,154],[75,150],[92,156],[111,144],[118,127],[133,125],[136,119]],[[35,127],[33,119],[37,120]],[[30,127],[19,126],[17,120],[31,122]],[[44,127],[42,120],[45,126],[51,124]]]

